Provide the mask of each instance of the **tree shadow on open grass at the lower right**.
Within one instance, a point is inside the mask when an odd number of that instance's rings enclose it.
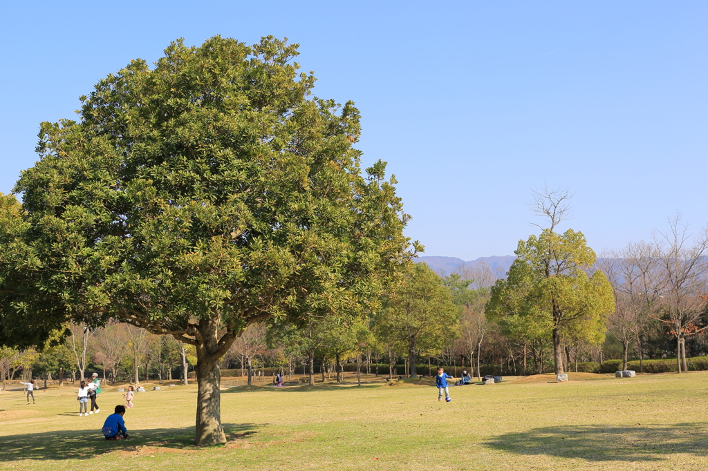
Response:
[[[549,426],[504,434],[484,443],[518,455],[588,461],[659,461],[675,453],[708,456],[708,424]]]

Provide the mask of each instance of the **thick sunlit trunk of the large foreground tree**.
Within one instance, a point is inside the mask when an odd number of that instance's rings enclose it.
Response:
[[[199,358],[197,349],[197,437],[198,446],[226,443],[221,424],[221,374],[216,358]]]

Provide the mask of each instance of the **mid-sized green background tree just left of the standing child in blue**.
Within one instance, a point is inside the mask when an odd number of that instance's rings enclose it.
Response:
[[[400,284],[385,298],[384,308],[374,316],[375,330],[389,342],[405,346],[410,376],[415,378],[420,351],[440,351],[456,334],[459,308],[445,281],[428,264],[413,264]]]

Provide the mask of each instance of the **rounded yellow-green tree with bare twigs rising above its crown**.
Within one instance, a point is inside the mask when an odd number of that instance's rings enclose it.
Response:
[[[563,373],[564,335],[602,341],[605,320],[615,309],[612,286],[593,268],[595,252],[581,232],[544,229],[520,240],[514,253],[506,279],[492,288],[487,318],[512,335],[552,337],[556,373]]]

